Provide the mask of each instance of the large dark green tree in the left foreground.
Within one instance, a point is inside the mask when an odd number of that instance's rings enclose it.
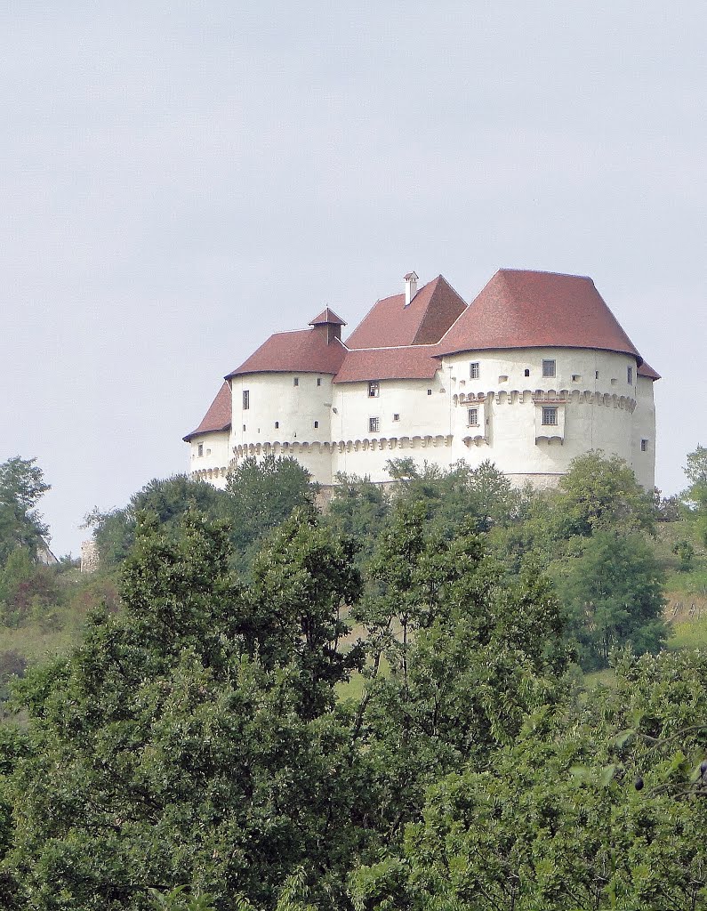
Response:
[[[231,575],[222,527],[188,513],[167,535],[146,517],[122,571],[123,610],[21,681],[32,750],[12,776],[5,869],[26,906],[143,911],[149,889],[185,886],[221,911],[239,896],[268,909],[302,865],[315,904],[342,906],[358,773],[325,690],[348,673],[328,640],[356,576],[313,520],[297,525],[273,539],[249,591]],[[312,564],[330,553],[326,578]],[[259,592],[279,599],[270,630]]]

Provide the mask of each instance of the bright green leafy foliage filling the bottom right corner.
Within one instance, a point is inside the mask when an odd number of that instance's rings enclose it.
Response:
[[[615,687],[528,715],[486,765],[430,788],[403,851],[353,875],[354,906],[707,907],[706,661],[621,658]]]

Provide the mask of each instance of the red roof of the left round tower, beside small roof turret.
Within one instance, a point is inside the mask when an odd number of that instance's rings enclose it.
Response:
[[[335,374],[345,353],[339,339],[327,343],[316,329],[275,333],[226,379],[241,374]]]

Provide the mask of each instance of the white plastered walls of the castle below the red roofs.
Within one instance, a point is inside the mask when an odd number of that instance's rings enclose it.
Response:
[[[542,375],[543,360],[555,362],[554,377]],[[477,377],[470,363],[478,363]],[[620,455],[643,486],[653,486],[652,382],[637,377],[636,360],[626,354],[569,348],[455,354],[442,359],[433,379],[384,380],[373,397],[368,382],[333,384],[327,374],[237,376],[232,393],[230,440],[210,434],[192,441],[192,471],[207,479],[211,471],[218,486],[231,459],[268,452],[292,455],[323,485],[337,472],[388,481],[389,459],[413,458],[418,466],[442,467],[489,459],[514,483],[547,486],[590,449]],[[543,406],[557,408],[557,425],[543,425]],[[468,424],[470,407],[476,426]],[[377,433],[369,429],[371,418],[378,419]],[[641,440],[648,441],[645,450]]]

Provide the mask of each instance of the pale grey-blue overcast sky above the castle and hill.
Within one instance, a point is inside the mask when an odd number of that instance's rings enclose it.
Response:
[[[329,304],[590,275],[707,445],[702,3],[18,0],[0,11],[0,461],[53,548],[184,471],[220,378]]]

